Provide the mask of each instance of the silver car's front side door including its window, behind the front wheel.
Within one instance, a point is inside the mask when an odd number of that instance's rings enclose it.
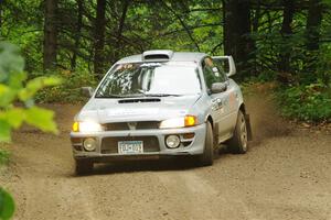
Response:
[[[216,129],[218,130],[218,136],[222,138],[228,133],[228,125],[226,123],[226,116],[229,113],[228,108],[228,89],[223,92],[212,94],[211,88],[214,82],[226,82],[227,77],[224,73],[214,65],[211,57],[204,58],[202,63],[204,80],[209,90],[209,96],[212,101],[212,117]]]

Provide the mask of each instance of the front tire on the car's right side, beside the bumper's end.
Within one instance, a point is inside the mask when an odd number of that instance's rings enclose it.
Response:
[[[212,124],[210,122],[206,123],[204,151],[199,161],[202,166],[211,166],[214,163],[214,139]]]

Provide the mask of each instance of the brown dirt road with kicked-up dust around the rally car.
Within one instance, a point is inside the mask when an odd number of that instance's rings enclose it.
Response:
[[[0,185],[18,204],[14,219],[312,219],[331,220],[331,135],[279,119],[250,97],[255,141],[245,155],[222,153],[214,166],[192,162],[98,165],[73,173],[68,132],[77,106],[49,106],[61,134],[14,134]]]

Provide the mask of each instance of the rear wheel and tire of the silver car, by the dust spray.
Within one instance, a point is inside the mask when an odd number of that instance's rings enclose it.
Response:
[[[227,141],[229,152],[234,154],[245,154],[248,148],[247,123],[244,113],[239,110],[237,123],[233,138]]]

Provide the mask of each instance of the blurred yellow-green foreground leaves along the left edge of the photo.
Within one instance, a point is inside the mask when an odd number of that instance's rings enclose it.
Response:
[[[58,85],[60,79],[36,77],[26,81],[23,69],[24,59],[18,47],[0,42],[0,143],[10,142],[12,129],[19,129],[22,123],[57,132],[53,111],[35,107],[33,97],[44,87]],[[8,152],[0,150],[0,162],[8,162]],[[10,219],[13,212],[12,197],[0,187],[0,219]]]

